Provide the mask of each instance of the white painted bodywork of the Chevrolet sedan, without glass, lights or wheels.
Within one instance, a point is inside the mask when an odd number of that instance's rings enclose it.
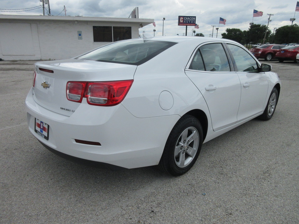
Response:
[[[206,115],[204,142],[207,142],[262,114],[271,90],[280,85],[273,72],[253,75],[186,69],[200,44],[223,40],[202,37],[153,40],[178,44],[140,65],[78,59],[36,63],[35,87],[26,97],[31,133],[46,146],[70,156],[125,168],[152,166],[159,163],[169,133],[184,114],[201,111]],[[39,68],[53,70],[54,74]],[[115,106],[94,106],[86,98],[82,103],[66,98],[68,81],[132,79],[126,97]],[[44,81],[52,86],[44,89],[41,86]],[[249,88],[243,87],[247,82]],[[211,86],[216,90],[206,90]],[[34,131],[35,118],[49,124],[49,140]],[[77,143],[75,139],[100,142],[101,146]]]

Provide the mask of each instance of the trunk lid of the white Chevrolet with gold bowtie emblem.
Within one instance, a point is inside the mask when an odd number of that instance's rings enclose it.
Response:
[[[67,82],[131,80],[137,68],[135,65],[78,59],[38,62],[35,67],[34,100],[36,103],[48,110],[68,116],[74,113],[80,103],[67,99]]]

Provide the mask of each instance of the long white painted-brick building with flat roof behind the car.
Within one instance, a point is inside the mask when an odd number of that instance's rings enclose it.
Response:
[[[0,15],[0,58],[72,58],[101,45],[139,37],[154,19]]]

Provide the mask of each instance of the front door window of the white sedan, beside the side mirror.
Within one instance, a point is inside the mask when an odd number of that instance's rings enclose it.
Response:
[[[227,46],[235,59],[237,72],[259,72],[257,62],[247,51],[233,44],[227,44]]]

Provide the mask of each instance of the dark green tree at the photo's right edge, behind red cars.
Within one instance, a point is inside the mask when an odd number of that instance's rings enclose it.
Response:
[[[274,42],[277,44],[298,43],[298,39],[299,26],[297,24],[282,26],[275,30]]]

